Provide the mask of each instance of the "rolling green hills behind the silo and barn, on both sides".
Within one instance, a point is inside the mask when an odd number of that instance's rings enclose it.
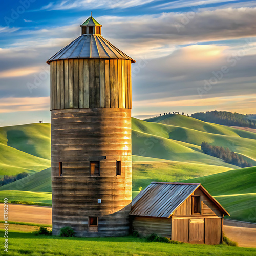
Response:
[[[146,121],[132,118],[133,194],[152,181],[201,179],[197,182],[217,197],[230,211],[231,218],[250,220],[246,205],[256,192],[255,168],[238,169],[204,154],[200,146],[207,141],[229,147],[256,165],[255,139],[256,133],[182,115],[165,115]],[[30,174],[1,187],[0,194],[7,195],[9,200],[51,202],[51,193],[47,193],[51,191],[50,124],[1,127],[0,153],[0,175],[24,171]],[[248,190],[245,185],[239,187],[235,183],[246,177]],[[222,182],[218,182],[219,179]],[[234,189],[229,189],[231,187]],[[250,210],[255,211],[252,205]]]

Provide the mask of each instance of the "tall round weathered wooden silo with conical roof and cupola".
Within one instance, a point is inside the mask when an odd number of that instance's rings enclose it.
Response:
[[[123,236],[132,200],[131,63],[91,16],[51,66],[53,234]]]

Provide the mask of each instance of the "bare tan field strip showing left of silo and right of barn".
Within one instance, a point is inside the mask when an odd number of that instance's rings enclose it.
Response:
[[[0,212],[4,212],[3,203],[0,203]],[[9,204],[8,220],[38,224],[52,224],[52,208],[45,206]],[[226,237],[238,242],[239,246],[256,248],[256,224],[224,220],[223,231]]]

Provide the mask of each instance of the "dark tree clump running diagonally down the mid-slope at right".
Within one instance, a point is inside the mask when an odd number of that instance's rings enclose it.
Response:
[[[252,163],[248,163],[241,155],[230,151],[229,148],[210,145],[208,142],[204,141],[201,144],[201,150],[207,155],[224,160],[225,163],[237,165],[242,168],[253,166]]]

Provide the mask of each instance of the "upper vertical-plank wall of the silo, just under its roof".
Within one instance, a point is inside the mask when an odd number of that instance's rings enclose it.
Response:
[[[130,60],[56,60],[51,77],[51,110],[132,108]]]

